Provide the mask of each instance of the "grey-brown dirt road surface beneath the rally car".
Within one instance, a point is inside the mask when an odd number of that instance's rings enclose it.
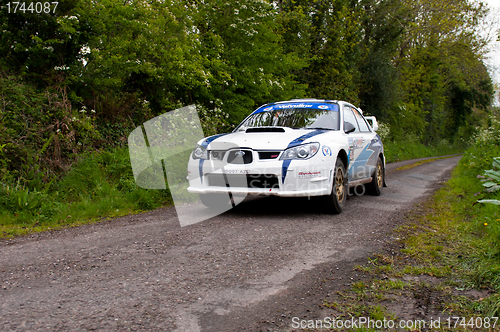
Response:
[[[353,266],[446,179],[460,157],[397,171],[341,215],[257,197],[199,224],[175,210],[0,242],[2,331],[290,331],[355,281]],[[407,163],[406,163],[407,164]]]

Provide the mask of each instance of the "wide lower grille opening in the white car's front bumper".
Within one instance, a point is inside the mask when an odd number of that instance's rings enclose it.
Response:
[[[208,174],[208,185],[227,187],[222,174]],[[235,188],[279,188],[278,177],[274,174],[226,174],[229,184]]]

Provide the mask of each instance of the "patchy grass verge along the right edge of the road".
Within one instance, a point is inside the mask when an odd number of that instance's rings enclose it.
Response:
[[[357,267],[365,280],[324,301],[333,316],[375,319],[378,308],[381,320],[429,323],[441,317],[441,328],[433,330],[443,331],[475,330],[470,318],[500,316],[500,209],[477,203],[484,192],[478,169],[469,163],[474,153],[466,153],[445,187],[407,215],[388,247]],[[457,323],[453,317],[466,319]],[[499,329],[497,322],[480,330]]]

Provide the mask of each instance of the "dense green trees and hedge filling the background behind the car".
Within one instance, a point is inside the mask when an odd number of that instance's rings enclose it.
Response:
[[[395,160],[409,155],[408,137],[423,155],[465,145],[477,126],[497,125],[478,33],[486,13],[468,0],[79,0],[50,14],[2,7],[2,209],[49,215],[40,208],[58,207],[43,197],[69,186],[62,179],[79,156],[120,148],[138,125],[188,104],[215,134],[264,103],[343,99],[387,124]],[[484,144],[492,143],[500,145]],[[485,169],[491,159],[478,151],[465,158]]]

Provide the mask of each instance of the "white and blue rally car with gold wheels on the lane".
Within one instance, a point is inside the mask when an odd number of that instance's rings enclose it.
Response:
[[[246,195],[323,196],[328,211],[340,213],[349,188],[380,195],[385,185],[384,148],[369,120],[345,101],[263,105],[232,133],[198,142],[188,191],[209,208]]]

